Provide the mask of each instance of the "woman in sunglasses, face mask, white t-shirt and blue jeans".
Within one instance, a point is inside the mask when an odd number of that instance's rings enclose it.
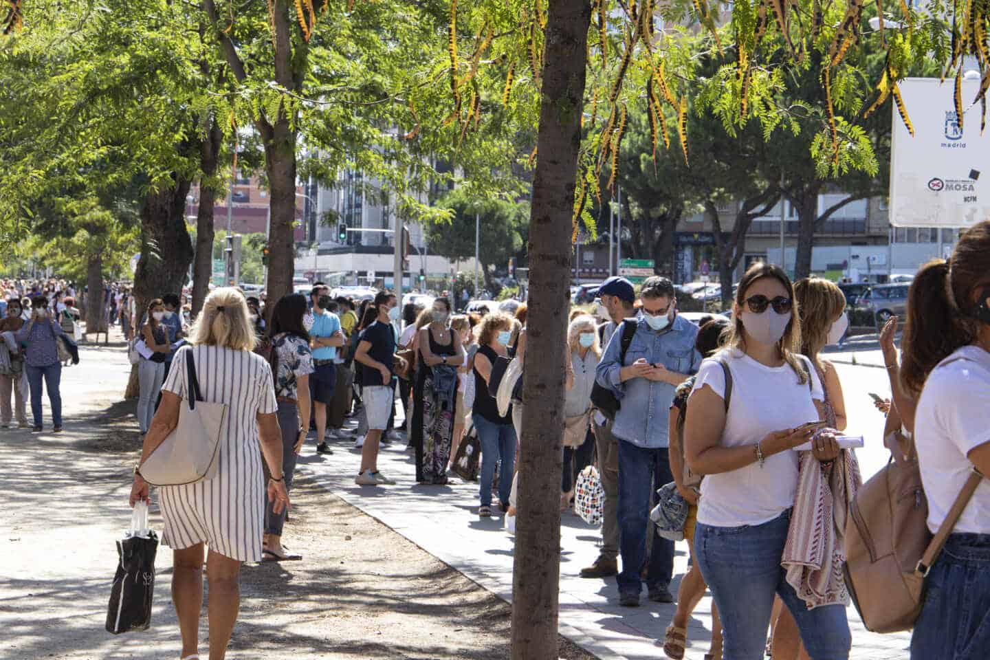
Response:
[[[822,381],[799,355],[794,287],[778,266],[753,264],[733,305],[725,348],[706,359],[684,426],[685,458],[705,475],[694,547],[722,618],[726,660],[758,660],[779,595],[815,660],[848,657],[845,608],[809,610],[781,566],[798,485],[798,447],[820,462],[839,454],[835,438],[806,425],[825,418]],[[727,405],[727,379],[732,390]]]

